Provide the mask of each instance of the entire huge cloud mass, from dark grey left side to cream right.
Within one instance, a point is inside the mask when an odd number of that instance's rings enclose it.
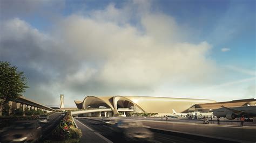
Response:
[[[25,71],[30,82],[27,96],[47,94],[40,101],[51,105],[49,99],[55,101],[59,94],[70,100],[92,94],[142,95],[165,83],[213,80],[218,69],[208,58],[210,44],[185,42],[183,27],[174,18],[137,6],[137,24],[131,24],[134,17],[128,13],[133,7],[110,4],[85,16],[64,17],[50,34],[19,18],[5,20],[0,60]]]

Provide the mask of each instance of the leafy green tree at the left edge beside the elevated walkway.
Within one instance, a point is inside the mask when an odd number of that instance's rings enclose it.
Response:
[[[12,67],[9,62],[0,61],[0,116],[3,105],[14,101],[28,88],[26,77],[17,67]]]

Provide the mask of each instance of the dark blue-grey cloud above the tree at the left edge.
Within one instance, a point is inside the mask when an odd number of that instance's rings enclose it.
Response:
[[[1,22],[0,33],[5,33],[0,37],[0,60],[8,61],[24,71],[30,87],[25,93],[26,97],[56,104],[57,97],[51,89],[42,86],[60,82],[64,73],[75,69],[72,58],[61,51],[55,41],[21,19]]]

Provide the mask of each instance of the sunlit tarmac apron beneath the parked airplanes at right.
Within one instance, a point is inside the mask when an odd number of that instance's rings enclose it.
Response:
[[[113,118],[116,120],[136,120],[134,118]],[[138,118],[143,125],[155,128],[158,130],[177,132],[183,134],[197,135],[199,137],[208,137],[215,139],[223,139],[235,142],[256,142],[256,126],[255,122],[250,123],[251,126],[228,125],[222,122],[219,124],[203,124],[203,121],[186,122],[184,120],[149,120]],[[190,120],[187,120],[190,121]],[[221,122],[221,121],[220,121]]]

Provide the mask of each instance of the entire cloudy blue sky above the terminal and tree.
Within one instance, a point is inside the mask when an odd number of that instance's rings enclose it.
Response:
[[[256,98],[255,1],[0,1],[0,61],[24,96]]]

